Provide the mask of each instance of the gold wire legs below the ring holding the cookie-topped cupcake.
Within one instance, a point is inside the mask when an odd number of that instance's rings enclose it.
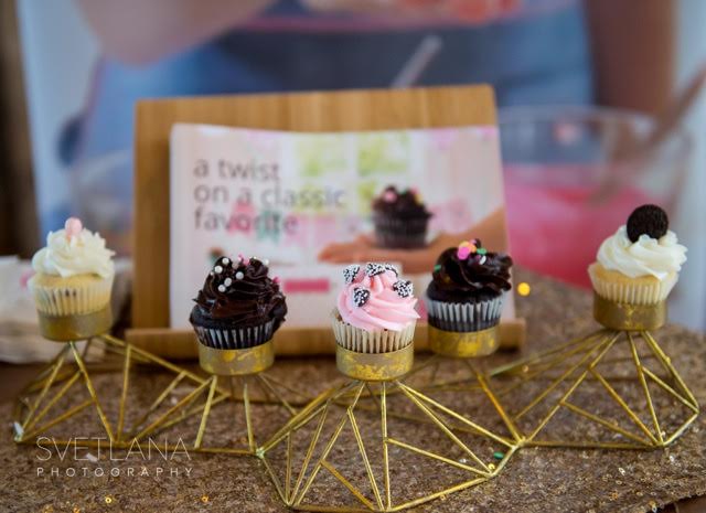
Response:
[[[526,445],[650,449],[684,432],[696,398],[639,328],[599,330],[492,372],[499,398],[520,405],[509,414]]]

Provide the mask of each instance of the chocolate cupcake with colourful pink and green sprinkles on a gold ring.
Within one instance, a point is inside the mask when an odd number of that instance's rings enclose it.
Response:
[[[477,238],[446,249],[427,288],[429,324],[452,332],[496,325],[512,287],[511,267],[509,255],[488,252]]]

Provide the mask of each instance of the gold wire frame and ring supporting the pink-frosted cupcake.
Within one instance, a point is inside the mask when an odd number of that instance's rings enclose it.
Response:
[[[351,351],[336,346],[336,353],[340,356],[343,356],[342,359],[339,359],[339,362],[345,362],[343,367],[339,364],[339,368],[349,376],[363,376],[367,377],[367,380],[353,380],[339,387],[324,392],[309,405],[303,407],[299,414],[292,417],[286,426],[284,426],[270,440],[257,450],[257,456],[261,458],[280,498],[287,506],[295,510],[320,512],[400,511],[435,499],[446,498],[451,493],[485,482],[498,475],[498,473],[505,467],[510,458],[518,448],[516,440],[510,440],[486,430],[473,420],[453,412],[431,397],[403,383],[399,376],[399,370],[408,365],[408,359],[410,354],[413,354],[413,345],[410,344],[408,348],[409,352],[403,350],[391,353],[365,354],[365,357],[362,360],[361,353],[359,353],[361,357],[350,359],[350,354],[347,353],[351,353]],[[389,377],[384,378],[381,376]],[[374,392],[372,386],[379,387],[379,391]],[[415,407],[418,416],[407,417],[404,415],[396,415],[392,412],[389,409],[388,398],[393,394],[398,394],[408,399]],[[362,405],[361,399],[364,397],[370,398],[374,406],[365,407]],[[333,425],[335,428],[333,429],[332,435],[324,438],[322,435],[324,423],[327,421],[327,418],[332,419],[332,416],[335,415],[335,413],[333,413],[334,407],[342,408],[343,413],[334,420]],[[372,441],[365,439],[365,434],[362,432],[359,427],[360,421],[362,421],[361,416],[364,415],[373,415],[379,419],[382,479],[379,479],[379,477],[375,477],[368,458],[368,450],[366,450],[366,446],[368,449],[372,447]],[[461,449],[462,453],[464,453],[467,458],[462,461],[457,461],[445,457],[443,455],[434,452],[432,450],[405,442],[398,437],[392,436],[388,432],[388,420],[392,417],[402,417],[417,423],[421,419],[424,425],[439,429],[454,447]],[[368,417],[368,419],[370,418],[371,417]],[[452,419],[452,423],[449,419]],[[315,428],[311,438],[307,441],[306,447],[296,447],[293,442],[295,434],[314,420]],[[356,487],[349,477],[344,475],[344,471],[336,469],[329,460],[329,455],[336,448],[336,443],[340,442],[341,432],[346,425],[349,425],[353,430],[357,445],[357,455],[360,455],[363,461],[367,483],[372,490],[372,499],[365,496],[365,493]],[[492,439],[504,449],[502,458],[500,460],[494,458],[490,461],[483,460],[483,458],[479,457],[459,438],[459,434],[461,431]],[[318,458],[314,458],[315,449],[321,448],[320,443],[324,443],[323,450]],[[270,452],[280,447],[284,447],[286,451],[284,479],[274,468],[272,459],[268,458]],[[406,488],[403,490],[393,490],[393,483],[391,482],[391,464],[393,463],[388,456],[391,447],[400,448],[431,460],[436,460],[437,462],[449,464],[456,469],[460,469],[468,473],[468,479],[464,479],[462,482],[454,485],[445,487],[441,490],[427,493],[422,496],[395,502],[393,499],[393,491],[396,493],[403,493],[405,491],[409,492],[409,490],[406,490]],[[301,451],[300,455],[303,453],[303,460],[300,468],[295,468],[296,451]],[[322,470],[333,475],[345,488],[345,490],[350,492],[347,498],[355,501],[354,506],[333,506],[329,503],[318,503],[310,496],[310,492],[312,488],[315,488],[317,478],[322,474]],[[429,477],[425,475],[425,478],[428,479]]]

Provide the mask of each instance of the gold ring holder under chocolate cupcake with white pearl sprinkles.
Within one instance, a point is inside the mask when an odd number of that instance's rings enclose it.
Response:
[[[199,363],[208,374],[243,376],[266,371],[275,363],[275,345],[269,340],[247,349],[215,349],[197,343]]]

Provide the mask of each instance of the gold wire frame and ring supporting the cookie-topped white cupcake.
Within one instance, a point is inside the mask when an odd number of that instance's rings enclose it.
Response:
[[[662,302],[635,307],[608,301],[596,295],[593,316],[605,325],[605,329],[498,367],[491,373],[494,383],[499,385],[498,394],[501,399],[507,394],[516,393],[518,387],[528,382],[547,382],[546,386],[523,404],[521,409],[511,413],[512,421],[524,430],[525,443],[531,446],[606,449],[653,449],[668,446],[694,423],[699,414],[699,406],[692,391],[672,365],[671,359],[650,331],[665,322],[665,304]],[[640,341],[643,341],[643,346],[646,348],[642,353],[638,345]],[[629,354],[622,359],[616,356],[620,344],[625,344],[623,349],[627,348]],[[656,360],[666,376],[660,377],[656,372],[645,366],[648,359]],[[630,371],[630,376],[625,377],[624,374],[622,377],[610,376],[606,370],[598,367],[601,363],[612,368],[617,368],[614,365],[620,364]],[[507,378],[515,378],[515,381],[500,388],[502,382]],[[616,386],[618,380],[627,380],[628,383],[638,387],[641,400],[644,400],[643,404],[646,405],[649,413],[646,421],[638,414],[638,408],[642,406],[630,404],[620,395]],[[581,384],[589,381],[600,384],[600,389],[605,391],[607,396],[619,406],[619,410],[624,413],[622,419],[608,418],[603,414],[590,412],[571,402],[571,397],[577,395]],[[674,412],[662,412],[655,406],[650,385],[659,387],[661,392],[666,393],[686,408],[686,417],[673,426],[670,432],[664,427],[665,415]],[[547,409],[539,415],[539,420],[522,426],[523,420],[530,417],[531,413],[539,412],[541,407]],[[585,435],[577,439],[558,437],[552,432],[548,424],[561,410],[568,410],[595,423],[608,429],[613,438],[618,437],[622,440],[588,439]]]

